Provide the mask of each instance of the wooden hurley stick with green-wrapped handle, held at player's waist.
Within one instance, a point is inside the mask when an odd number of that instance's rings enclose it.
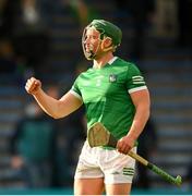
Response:
[[[118,142],[100,122],[96,122],[91,126],[91,128],[88,130],[87,139],[91,147],[111,146],[116,148]],[[178,186],[181,185],[182,179],[180,175],[178,175],[177,177],[171,176],[157,166],[151,163],[149,161],[147,161],[146,159],[133,151],[129,151],[128,155],[136,161],[139,161],[140,163],[142,163],[143,166],[147,167],[153,172],[164,177],[166,181]]]

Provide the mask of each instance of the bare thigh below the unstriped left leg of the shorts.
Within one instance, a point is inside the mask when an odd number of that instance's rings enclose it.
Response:
[[[104,177],[74,180],[74,195],[101,195],[103,192]]]

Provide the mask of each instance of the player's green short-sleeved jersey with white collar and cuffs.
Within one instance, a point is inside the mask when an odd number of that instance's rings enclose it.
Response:
[[[85,105],[87,127],[101,122],[119,139],[128,134],[135,114],[130,94],[142,89],[146,85],[139,69],[115,57],[101,69],[80,74],[71,93]]]

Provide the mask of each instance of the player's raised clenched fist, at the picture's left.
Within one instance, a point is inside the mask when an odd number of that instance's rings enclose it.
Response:
[[[41,89],[41,82],[35,77],[31,77],[26,82],[25,89],[28,94],[35,95]]]

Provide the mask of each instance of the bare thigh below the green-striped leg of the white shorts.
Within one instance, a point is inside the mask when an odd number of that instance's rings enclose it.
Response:
[[[106,184],[107,195],[130,195],[131,183]]]

